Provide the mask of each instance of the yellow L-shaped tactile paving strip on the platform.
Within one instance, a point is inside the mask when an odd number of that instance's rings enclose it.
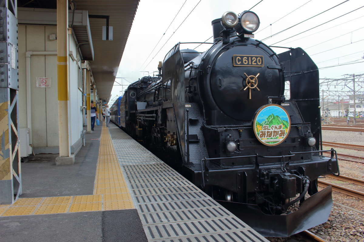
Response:
[[[102,127],[94,194],[64,197],[19,198],[0,204],[0,216],[75,213],[135,208],[116,157],[109,131]]]

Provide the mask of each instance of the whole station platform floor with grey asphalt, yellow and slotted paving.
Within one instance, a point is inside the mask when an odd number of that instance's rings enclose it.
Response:
[[[1,241],[267,241],[114,124],[74,165],[25,163],[23,194],[0,205]]]

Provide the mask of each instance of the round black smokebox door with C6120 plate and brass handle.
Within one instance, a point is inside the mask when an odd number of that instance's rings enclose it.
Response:
[[[256,110],[278,97],[284,88],[276,56],[256,41],[220,50],[212,61],[209,93],[218,108],[230,118],[250,121]],[[278,103],[280,104],[280,103]]]

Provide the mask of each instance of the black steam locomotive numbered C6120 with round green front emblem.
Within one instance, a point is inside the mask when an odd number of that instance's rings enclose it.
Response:
[[[289,236],[327,221],[331,187],[318,192],[317,178],[339,167],[316,142],[317,66],[301,48],[276,54],[254,40],[259,23],[226,12],[205,52],[178,43],[156,77],[127,88],[112,120],[262,235]]]

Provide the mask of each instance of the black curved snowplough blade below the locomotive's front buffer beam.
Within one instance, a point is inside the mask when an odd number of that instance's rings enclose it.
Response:
[[[307,198],[296,212],[267,215],[257,205],[217,201],[264,237],[288,237],[327,222],[332,208],[332,188],[327,186]]]

